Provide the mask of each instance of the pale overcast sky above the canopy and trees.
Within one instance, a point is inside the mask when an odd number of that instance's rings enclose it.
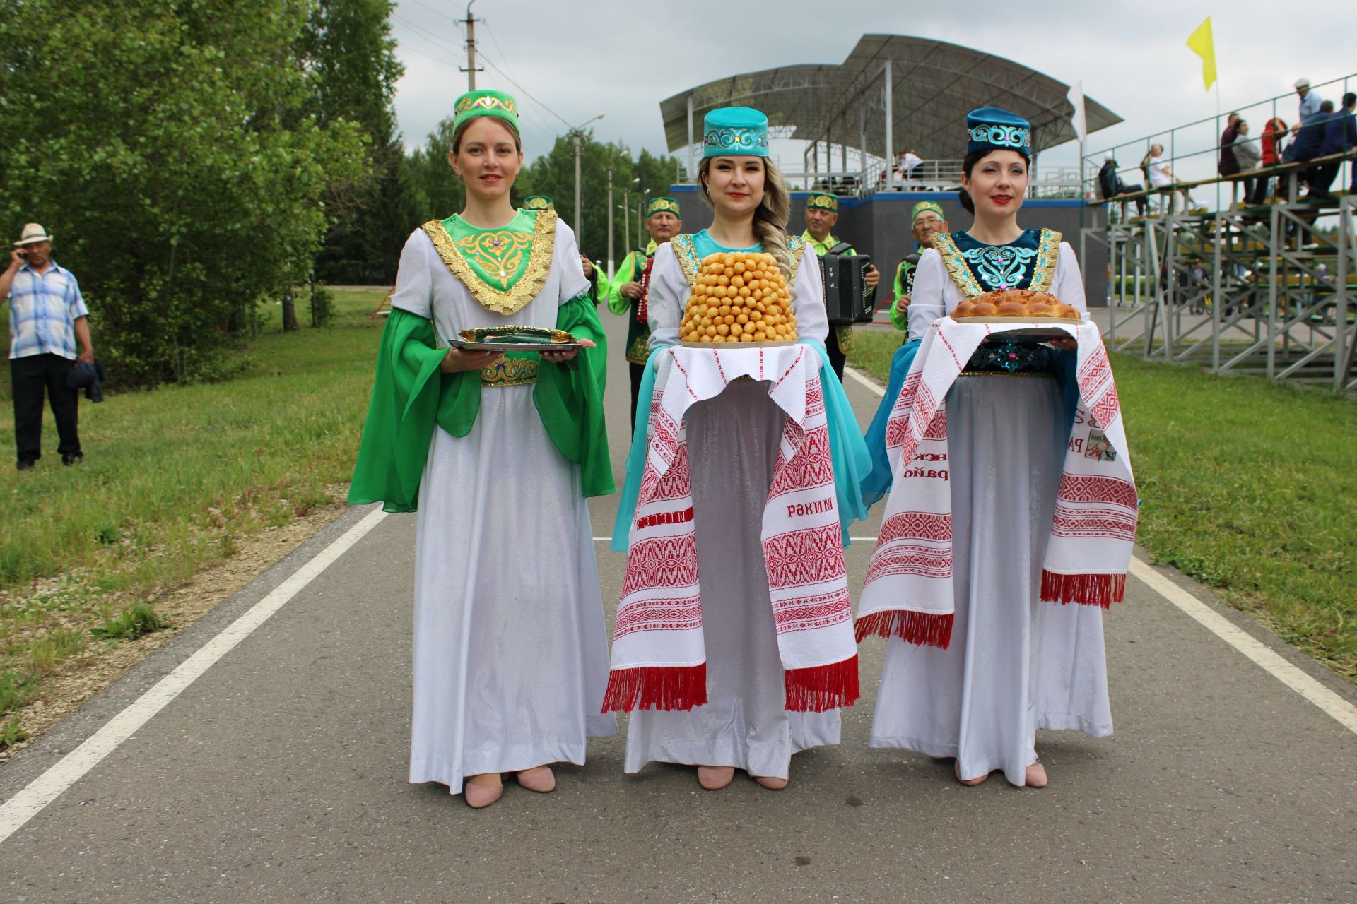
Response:
[[[1357,72],[1352,9],[1338,0],[1292,5],[788,0],[742,8],[729,0],[476,0],[472,14],[483,19],[476,23],[476,50],[486,70],[478,73],[476,87],[518,98],[525,150],[532,156],[567,126],[600,112],[604,119],[592,126],[598,140],[668,153],[662,99],[742,72],[840,64],[864,33],[949,41],[1067,84],[1083,81],[1088,98],[1125,121],[1091,136],[1092,152],[1216,114],[1216,95],[1202,88],[1201,62],[1185,45],[1205,16],[1212,18],[1220,103],[1228,111],[1284,94],[1300,76],[1319,84]],[[392,15],[396,53],[406,65],[396,114],[407,145],[423,144],[467,89],[467,76],[459,72],[465,65],[464,16],[465,0],[400,0]],[[917,89],[927,91],[927,84]],[[1320,94],[1337,99],[1341,89]],[[1295,107],[1291,99],[1282,102],[1286,122],[1295,121]],[[1254,134],[1259,126],[1261,117]],[[1044,155],[1042,164],[1073,164],[1076,149],[1067,144]],[[1128,153],[1120,155],[1124,165]]]

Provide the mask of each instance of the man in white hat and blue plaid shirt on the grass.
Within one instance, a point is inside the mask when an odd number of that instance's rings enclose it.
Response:
[[[33,470],[42,457],[42,396],[57,420],[57,451],[62,465],[84,455],[76,432],[80,396],[66,385],[76,361],[94,363],[90,310],[73,272],[52,259],[52,236],[26,224],[0,274],[0,298],[9,300],[9,375],[14,385],[16,466]],[[76,355],[76,340],[80,354]]]

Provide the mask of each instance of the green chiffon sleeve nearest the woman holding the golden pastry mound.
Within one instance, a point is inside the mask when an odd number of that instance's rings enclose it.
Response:
[[[543,361],[532,400],[537,405],[547,435],[566,461],[579,465],[585,496],[616,492],[612,462],[608,459],[608,430],[604,424],[603,388],[608,362],[608,339],[598,310],[588,295],[560,305],[556,328],[577,339],[592,339],[594,348],[582,348],[574,361]]]

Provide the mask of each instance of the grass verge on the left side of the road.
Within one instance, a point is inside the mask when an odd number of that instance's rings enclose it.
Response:
[[[231,381],[81,401],[81,465],[62,468],[47,412],[42,459],[15,470],[0,417],[0,716],[41,697],[91,630],[136,636],[157,617],[129,607],[331,501],[358,449],[383,294],[337,291],[334,325],[297,333],[270,306]]]

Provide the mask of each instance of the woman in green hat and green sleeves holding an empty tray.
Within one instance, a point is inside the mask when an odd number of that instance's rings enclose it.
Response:
[[[400,253],[349,501],[418,508],[410,781],[480,808],[503,773],[552,790],[551,763],[584,763],[586,739],[616,731],[598,714],[608,651],[585,504],[613,482],[603,327],[575,237],[555,211],[509,199],[514,99],[459,98],[449,161],[467,206]],[[586,347],[448,347],[503,325]]]

